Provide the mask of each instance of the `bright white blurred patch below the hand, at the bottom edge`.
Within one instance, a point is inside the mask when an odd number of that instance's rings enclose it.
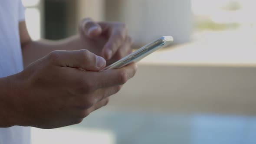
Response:
[[[115,135],[101,129],[59,128],[43,130],[32,128],[32,144],[116,144]]]

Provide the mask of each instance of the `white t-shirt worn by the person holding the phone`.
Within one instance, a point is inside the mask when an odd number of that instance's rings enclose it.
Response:
[[[0,77],[23,70],[18,27],[23,20],[21,0],[0,0]],[[0,144],[30,144],[30,128],[0,128]]]

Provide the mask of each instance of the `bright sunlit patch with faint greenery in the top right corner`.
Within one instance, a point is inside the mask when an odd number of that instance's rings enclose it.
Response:
[[[192,0],[192,11],[197,20],[255,27],[255,5],[255,0]]]

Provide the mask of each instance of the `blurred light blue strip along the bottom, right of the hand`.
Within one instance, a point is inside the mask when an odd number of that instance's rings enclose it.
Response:
[[[112,131],[117,144],[255,144],[256,117],[96,111],[79,128]]]

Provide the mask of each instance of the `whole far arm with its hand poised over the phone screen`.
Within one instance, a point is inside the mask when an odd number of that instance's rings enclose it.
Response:
[[[59,41],[33,42],[27,32],[26,23],[20,22],[19,28],[25,67],[55,50],[88,49],[107,59],[108,64],[131,52],[131,38],[123,23],[95,23],[91,19],[85,19],[80,24],[79,35]]]

